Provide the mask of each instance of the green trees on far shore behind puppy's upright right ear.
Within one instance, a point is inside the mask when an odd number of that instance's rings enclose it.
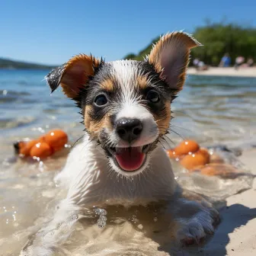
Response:
[[[206,22],[194,30],[193,36],[203,44],[191,51],[191,58],[198,58],[207,65],[218,66],[225,53],[229,53],[232,64],[237,56],[256,60],[256,28],[233,23]],[[152,40],[157,42],[159,37]],[[152,43],[138,54],[130,53],[124,59],[142,60],[152,49]],[[191,65],[191,62],[190,62]]]

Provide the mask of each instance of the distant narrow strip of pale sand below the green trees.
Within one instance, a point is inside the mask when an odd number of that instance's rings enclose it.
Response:
[[[218,75],[218,76],[240,76],[240,77],[256,77],[256,67],[240,68],[235,70],[231,68],[216,68],[210,67],[205,71],[197,71],[197,69],[190,67],[187,70],[188,75]]]

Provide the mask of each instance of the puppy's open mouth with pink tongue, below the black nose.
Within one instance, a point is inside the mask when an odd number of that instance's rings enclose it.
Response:
[[[146,161],[146,153],[149,151],[149,148],[150,144],[127,148],[111,147],[108,148],[108,151],[123,171],[136,171]]]

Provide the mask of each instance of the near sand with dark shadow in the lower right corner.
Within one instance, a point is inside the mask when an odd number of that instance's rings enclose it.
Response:
[[[243,152],[240,160],[256,174],[256,150]],[[220,211],[222,222],[213,238],[198,255],[224,256],[256,254],[256,180],[253,186],[226,199],[226,208]]]

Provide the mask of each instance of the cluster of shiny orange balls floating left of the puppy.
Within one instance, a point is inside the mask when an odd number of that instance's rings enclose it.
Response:
[[[68,142],[68,136],[62,130],[51,130],[39,139],[14,143],[15,152],[23,156],[46,158],[61,150]]]

